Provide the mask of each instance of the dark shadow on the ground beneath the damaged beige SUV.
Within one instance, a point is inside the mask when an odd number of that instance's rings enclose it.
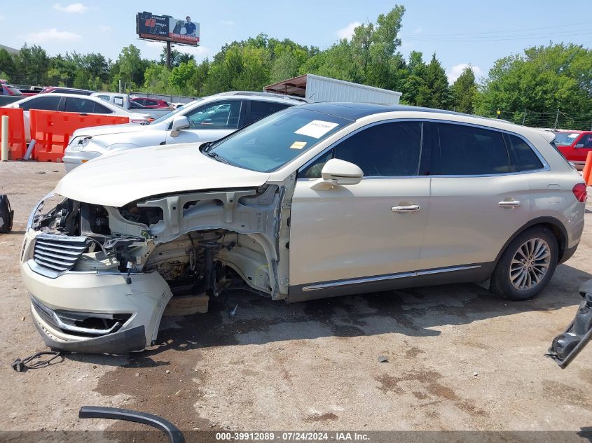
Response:
[[[233,291],[209,302],[207,314],[165,317],[156,346],[130,355],[128,367],[167,365],[155,361],[169,349],[188,351],[209,346],[266,344],[319,337],[359,337],[397,332],[409,337],[440,335],[438,327],[464,325],[528,311],[555,311],[580,302],[577,290],[592,274],[560,265],[549,286],[525,302],[504,300],[474,283],[393,290],[384,293],[286,304]],[[97,356],[98,357],[98,356]],[[103,364],[109,364],[104,362]]]

